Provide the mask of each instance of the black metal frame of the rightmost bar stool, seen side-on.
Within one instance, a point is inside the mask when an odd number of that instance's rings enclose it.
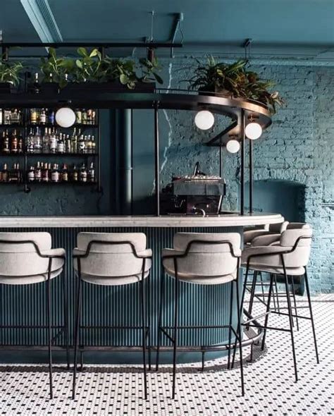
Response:
[[[273,285],[274,285],[274,274],[270,274],[270,283],[269,283],[269,289],[268,289],[268,302],[266,304],[266,312],[261,315],[262,317],[265,317],[265,321],[264,321],[264,325],[263,326],[259,326],[256,325],[256,328],[261,327],[262,329],[264,329],[264,335],[262,337],[262,345],[261,345],[261,349],[264,350],[264,346],[265,346],[265,342],[266,342],[266,330],[267,329],[274,329],[277,331],[287,331],[290,332],[290,336],[291,336],[291,343],[292,343],[292,357],[293,357],[293,363],[294,363],[294,368],[295,368],[295,381],[298,381],[298,373],[297,373],[297,357],[296,357],[296,352],[295,352],[295,339],[294,339],[294,335],[293,335],[293,318],[296,317],[297,319],[309,319],[311,321],[311,326],[312,326],[312,332],[313,332],[313,338],[314,338],[314,349],[316,352],[316,362],[319,363],[319,357],[318,357],[318,345],[316,343],[316,330],[315,330],[315,326],[314,326],[314,317],[313,317],[313,312],[312,312],[312,307],[311,307],[311,294],[310,294],[310,290],[309,290],[309,281],[308,281],[308,277],[307,277],[307,268],[304,267],[305,269],[305,273],[304,273],[304,279],[305,279],[305,285],[307,288],[307,300],[309,303],[309,313],[310,316],[309,317],[304,317],[304,316],[300,316],[297,315],[297,305],[295,303],[295,314],[292,314],[292,305],[291,305],[291,299],[290,299],[290,292],[289,292],[289,279],[287,276],[287,270],[285,267],[285,260],[284,260],[284,255],[290,254],[292,252],[294,252],[298,246],[298,243],[300,240],[311,240],[311,236],[307,237],[307,236],[300,236],[299,238],[297,238],[297,240],[295,241],[295,244],[293,245],[293,247],[290,250],[285,250],[283,252],[277,252],[277,253],[258,253],[258,254],[254,254],[254,255],[250,255],[247,258],[247,268],[246,268],[246,274],[245,274],[245,281],[244,281],[244,288],[242,290],[242,303],[245,299],[245,291],[247,288],[247,279],[248,279],[248,274],[249,274],[249,269],[253,269],[254,271],[256,271],[256,267],[252,267],[250,265],[250,261],[251,259],[253,259],[254,257],[270,257],[270,256],[279,256],[280,257],[280,261],[282,262],[282,268],[283,268],[283,274],[275,274],[277,276],[283,276],[284,277],[284,283],[285,283],[285,295],[287,298],[287,313],[281,312],[280,310],[276,310],[276,308],[274,310],[271,310],[271,296],[273,293]],[[254,280],[256,280],[256,278],[253,278]],[[292,276],[292,280],[293,280],[293,276]],[[276,283],[276,281],[275,281]],[[253,281],[253,285],[252,285],[252,293],[254,292],[254,281]],[[280,309],[283,309],[282,307]],[[285,315],[287,317],[289,317],[289,326],[290,329],[285,329],[285,328],[278,328],[276,326],[268,326],[268,318],[269,318],[269,314],[274,313],[274,314],[280,314],[280,315]],[[249,326],[255,326],[252,324],[252,322],[254,321],[254,319],[259,319],[259,317],[255,317],[252,319],[249,319],[247,322],[244,322],[243,325],[249,327]]]

